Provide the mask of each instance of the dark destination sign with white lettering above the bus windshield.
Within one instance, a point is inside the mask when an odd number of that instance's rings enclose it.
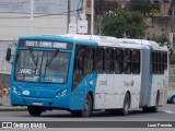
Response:
[[[52,40],[21,40],[20,47],[71,49],[71,44]]]

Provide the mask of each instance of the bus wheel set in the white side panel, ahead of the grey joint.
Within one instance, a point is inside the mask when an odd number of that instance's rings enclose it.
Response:
[[[120,110],[122,116],[127,116],[129,114],[129,107],[130,107],[130,98],[128,93],[125,95],[125,100],[124,100],[124,106],[122,109]]]

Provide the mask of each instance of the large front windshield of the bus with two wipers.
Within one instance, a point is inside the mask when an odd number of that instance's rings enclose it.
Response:
[[[70,52],[20,49],[14,80],[39,83],[67,83]]]

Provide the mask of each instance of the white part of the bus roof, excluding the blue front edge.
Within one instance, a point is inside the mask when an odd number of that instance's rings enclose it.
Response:
[[[98,44],[98,46],[124,46],[141,48],[141,46],[151,46],[155,50],[168,51],[166,46],[161,47],[156,41],[145,40],[145,39],[130,39],[130,38],[116,38],[110,36],[97,36],[97,35],[78,35],[78,34],[66,34],[59,35],[62,37],[69,37],[78,40],[93,40]]]

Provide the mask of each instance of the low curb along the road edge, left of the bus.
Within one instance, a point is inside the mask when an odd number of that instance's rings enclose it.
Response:
[[[0,111],[26,111],[26,107],[19,106],[0,106]]]

